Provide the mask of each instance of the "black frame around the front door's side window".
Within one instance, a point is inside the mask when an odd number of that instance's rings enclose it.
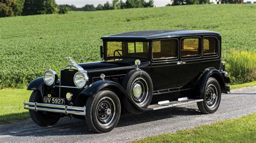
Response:
[[[177,56],[176,57],[174,57],[174,58],[172,58],[172,57],[170,57],[170,58],[153,58],[153,42],[154,41],[161,41],[161,40],[177,40],[177,47],[176,47],[176,49],[177,49],[177,52],[176,52]],[[151,55],[152,61],[171,61],[171,60],[177,60],[179,58],[179,39],[178,38],[165,38],[165,39],[155,39],[155,40],[152,40],[151,41],[151,48],[150,49],[151,49],[150,55]]]

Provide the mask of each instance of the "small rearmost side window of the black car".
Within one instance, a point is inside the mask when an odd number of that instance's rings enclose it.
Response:
[[[213,55],[217,54],[218,41],[214,37],[205,37],[204,38],[204,55]]]

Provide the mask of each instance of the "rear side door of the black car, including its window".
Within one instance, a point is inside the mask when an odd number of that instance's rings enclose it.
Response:
[[[193,81],[200,75],[201,67],[201,37],[184,37],[180,39],[180,60],[178,87],[191,88]]]

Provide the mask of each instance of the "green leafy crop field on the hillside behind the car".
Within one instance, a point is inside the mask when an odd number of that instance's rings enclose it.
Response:
[[[0,88],[24,87],[44,70],[97,61],[100,37],[135,30],[213,30],[231,48],[256,51],[256,5],[187,5],[0,18]]]

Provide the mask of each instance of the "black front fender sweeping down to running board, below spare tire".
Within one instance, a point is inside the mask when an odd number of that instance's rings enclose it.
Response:
[[[127,94],[125,89],[118,83],[105,80],[105,81],[97,81],[89,85],[89,87],[85,88],[77,97],[76,102],[79,102],[80,99],[83,99],[83,97],[89,97],[92,95],[97,94],[100,90],[103,89],[111,89],[113,92],[116,92],[119,99],[122,99],[122,103],[125,105],[125,109],[129,112],[135,113],[135,112],[142,112],[146,111],[147,109],[140,108],[137,106],[131,99],[131,97]],[[124,98],[127,97],[127,98]],[[135,111],[133,108],[136,108],[137,111]]]

